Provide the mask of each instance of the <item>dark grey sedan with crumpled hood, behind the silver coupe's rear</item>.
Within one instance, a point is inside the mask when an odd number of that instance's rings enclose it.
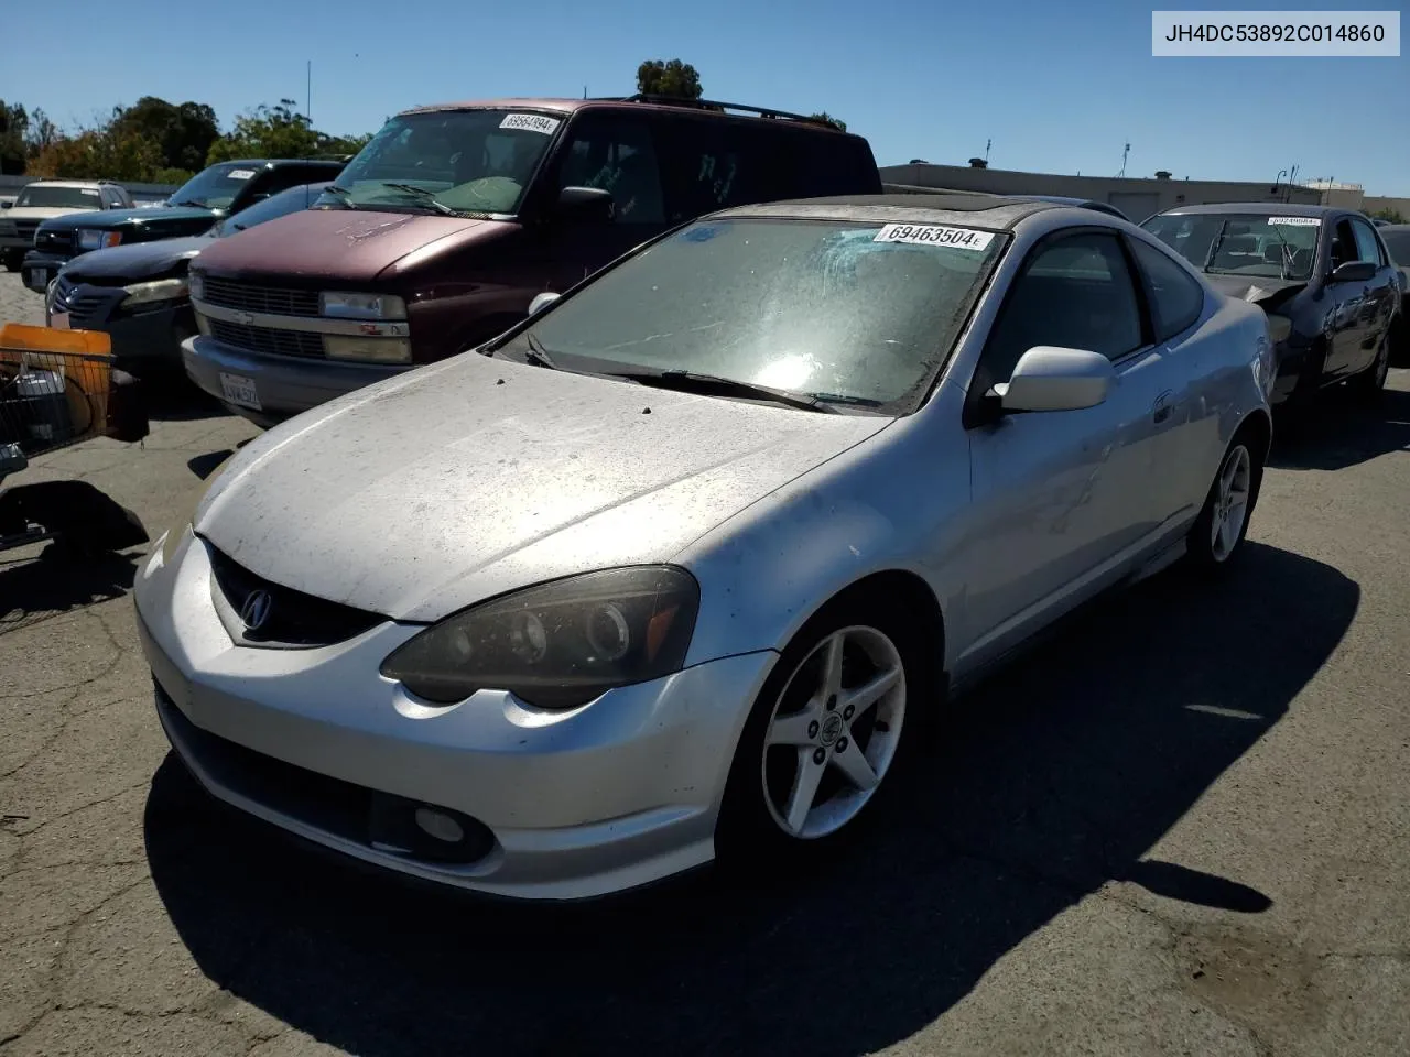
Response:
[[[1378,228],[1332,206],[1183,206],[1141,227],[1220,290],[1263,309],[1277,351],[1272,403],[1328,385],[1379,392],[1400,326],[1400,273]],[[1379,228],[1385,231],[1385,228]]]

